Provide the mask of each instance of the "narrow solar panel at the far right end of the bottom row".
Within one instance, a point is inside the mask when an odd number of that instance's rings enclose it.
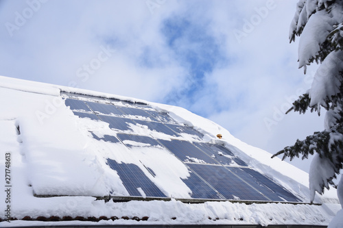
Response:
[[[252,170],[251,168],[242,168],[246,173],[250,174],[250,177],[255,179],[258,183],[263,184],[273,192],[275,192],[279,197],[282,199],[285,199],[285,201],[289,202],[301,202],[298,197],[294,196],[291,192],[283,188],[282,186],[279,186],[279,184],[274,183],[271,179],[268,177],[265,177],[265,175],[262,175],[261,173],[257,172],[256,170]]]

